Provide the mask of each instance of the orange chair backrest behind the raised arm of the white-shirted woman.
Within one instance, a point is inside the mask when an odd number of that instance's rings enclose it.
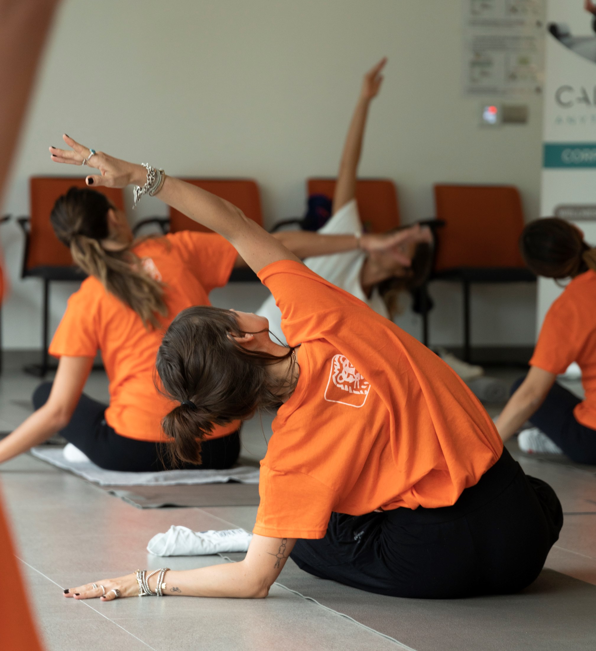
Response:
[[[307,179],[307,194],[333,199],[334,178]],[[356,201],[364,230],[384,233],[399,226],[399,203],[395,183],[385,178],[365,178],[356,182]]]

